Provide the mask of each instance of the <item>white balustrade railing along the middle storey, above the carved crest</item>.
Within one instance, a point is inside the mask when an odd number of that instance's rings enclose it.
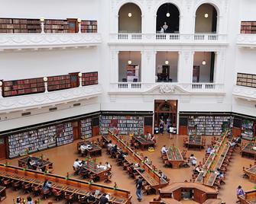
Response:
[[[117,82],[111,84],[111,91],[109,92],[137,92],[144,93],[155,88],[159,88],[161,91],[169,91],[172,89],[179,89],[186,93],[224,93],[224,84],[215,83],[168,83],[168,82],[156,82],[156,83],[142,83],[142,82]]]

